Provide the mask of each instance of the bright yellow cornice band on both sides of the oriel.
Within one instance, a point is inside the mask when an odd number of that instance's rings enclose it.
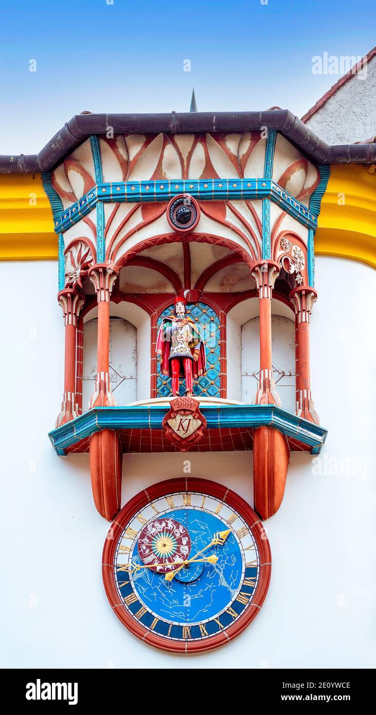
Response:
[[[330,167],[315,253],[376,267],[376,173],[359,164]],[[0,175],[0,260],[57,257],[57,236],[41,175]]]

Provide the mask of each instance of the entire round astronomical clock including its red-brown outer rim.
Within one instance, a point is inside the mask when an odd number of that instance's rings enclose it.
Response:
[[[103,578],[114,613],[145,643],[197,652],[237,636],[269,587],[266,533],[224,485],[183,478],[145,489],[107,536]]]

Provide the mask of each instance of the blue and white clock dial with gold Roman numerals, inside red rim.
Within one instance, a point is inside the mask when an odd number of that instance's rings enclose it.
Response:
[[[176,492],[124,526],[114,553],[120,603],[170,641],[223,633],[252,604],[260,574],[252,528],[219,498]]]

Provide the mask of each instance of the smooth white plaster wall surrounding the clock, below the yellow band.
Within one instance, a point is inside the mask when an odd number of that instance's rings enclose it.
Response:
[[[47,437],[63,390],[57,265],[0,263],[1,666],[376,665],[375,272],[320,257],[316,275],[312,390],[329,429],[322,458],[292,454],[282,507],[266,523],[272,582],[259,616],[224,648],[186,658],[154,651],[114,617],[101,576],[108,524],[91,498],[89,457],[58,458]],[[187,456],[126,455],[122,503],[181,475]],[[252,500],[252,455],[189,458],[192,475]]]

